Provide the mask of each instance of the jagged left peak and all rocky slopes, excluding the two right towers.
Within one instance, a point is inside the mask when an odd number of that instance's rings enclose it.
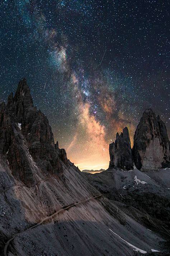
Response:
[[[0,105],[0,255],[169,255],[168,175],[80,172],[24,79]]]

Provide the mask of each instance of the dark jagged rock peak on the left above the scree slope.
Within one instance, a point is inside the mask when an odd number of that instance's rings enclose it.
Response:
[[[47,117],[34,107],[25,79],[7,105],[0,104],[0,155],[14,178],[28,187],[37,183],[37,170],[41,176],[58,174],[62,161],[67,162],[66,153],[56,150]]]

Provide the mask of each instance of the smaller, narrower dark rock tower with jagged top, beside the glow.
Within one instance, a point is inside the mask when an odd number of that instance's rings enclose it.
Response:
[[[124,170],[133,169],[133,157],[128,128],[123,129],[120,135],[117,133],[115,142],[109,145],[109,168],[118,167]]]

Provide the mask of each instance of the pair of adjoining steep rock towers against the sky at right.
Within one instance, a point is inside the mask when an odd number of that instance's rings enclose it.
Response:
[[[115,142],[109,145],[109,168],[131,170],[158,170],[170,165],[169,139],[165,123],[152,109],[147,109],[134,134],[133,149],[127,127],[117,133]]]

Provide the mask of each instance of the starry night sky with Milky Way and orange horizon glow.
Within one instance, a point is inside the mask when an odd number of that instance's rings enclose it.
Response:
[[[80,170],[146,108],[170,131],[169,5],[150,0],[1,0],[0,102],[27,78],[55,141]],[[169,134],[170,135],[170,134]]]

